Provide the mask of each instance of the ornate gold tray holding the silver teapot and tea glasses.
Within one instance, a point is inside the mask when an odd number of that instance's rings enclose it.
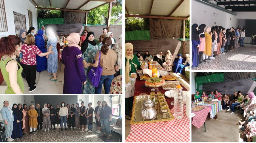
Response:
[[[166,102],[166,101],[165,101]],[[142,100],[140,99],[140,96],[135,96],[134,101],[133,101],[133,112],[131,116],[131,124],[141,124],[141,123],[155,123],[155,122],[164,122],[164,121],[170,121],[173,120],[173,114],[171,113],[171,110],[166,102],[167,105],[167,119],[162,119],[162,114],[160,113],[160,109],[157,111],[157,117],[155,120],[147,120],[143,121],[142,118],[140,117],[141,109],[142,109]],[[160,108],[160,107],[159,107]]]

